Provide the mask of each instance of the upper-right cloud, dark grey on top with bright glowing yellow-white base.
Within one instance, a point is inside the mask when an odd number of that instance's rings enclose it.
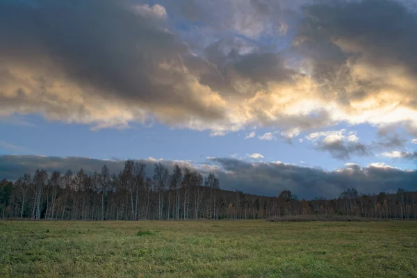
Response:
[[[399,1],[324,1],[304,7],[293,50],[338,106],[333,117],[415,126],[416,26]]]

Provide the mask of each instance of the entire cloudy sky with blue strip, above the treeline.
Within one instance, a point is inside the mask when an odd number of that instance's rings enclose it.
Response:
[[[264,195],[416,189],[416,49],[415,1],[3,0],[0,179],[137,159]]]

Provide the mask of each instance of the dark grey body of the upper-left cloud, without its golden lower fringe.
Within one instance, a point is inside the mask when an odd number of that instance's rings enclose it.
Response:
[[[145,110],[182,109],[184,116],[171,114],[181,119],[221,118],[222,111],[204,103],[188,85],[189,76],[181,67],[190,51],[166,30],[165,9],[158,8],[132,6],[124,0],[2,1],[0,69],[10,76],[0,79],[0,86],[7,88],[6,82],[19,77],[12,76],[9,67],[31,65],[41,71],[32,73],[37,90],[54,90],[52,84],[60,81],[56,71],[83,93],[108,101],[117,99]],[[161,63],[170,69],[161,69]],[[24,105],[25,95],[31,94],[21,90],[16,106]]]

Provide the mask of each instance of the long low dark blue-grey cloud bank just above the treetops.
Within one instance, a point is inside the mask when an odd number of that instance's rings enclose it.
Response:
[[[147,165],[152,177],[153,159],[140,160]],[[368,167],[349,164],[341,170],[325,171],[320,168],[300,167],[284,163],[247,163],[231,158],[211,158],[205,165],[184,161],[161,161],[172,169],[174,163],[181,167],[195,167],[220,177],[220,186],[226,190],[243,190],[245,193],[277,195],[282,190],[292,190],[299,197],[337,197],[347,188],[357,188],[361,193],[395,192],[398,188],[415,190],[416,171],[403,171],[375,163]],[[102,161],[79,157],[0,156],[0,179],[15,180],[25,172],[38,168],[48,171],[72,170],[81,167],[86,172],[99,171],[106,164],[111,172],[119,172],[124,161]]]

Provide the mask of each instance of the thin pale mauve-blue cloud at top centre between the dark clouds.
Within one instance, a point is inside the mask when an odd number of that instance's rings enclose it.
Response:
[[[195,26],[195,33],[204,33],[205,40],[211,39],[212,33],[222,35],[227,32],[252,39],[261,35],[277,37],[286,32],[285,12],[290,8],[286,2],[270,0],[193,0],[176,3],[162,0],[159,3],[167,6],[174,17],[200,22]]]

